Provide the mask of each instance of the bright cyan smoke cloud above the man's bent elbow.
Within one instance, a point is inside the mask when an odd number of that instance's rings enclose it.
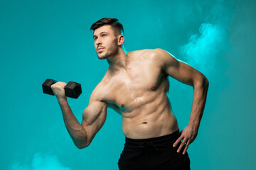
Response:
[[[223,30],[220,26],[203,23],[199,34],[191,35],[181,47],[181,55],[188,64],[198,69],[213,69],[218,52],[222,49]]]

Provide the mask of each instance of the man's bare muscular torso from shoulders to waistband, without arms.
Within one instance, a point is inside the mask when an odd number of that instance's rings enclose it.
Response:
[[[167,93],[168,75],[151,50],[129,52],[125,69],[107,70],[98,88],[101,101],[122,115],[126,137],[144,139],[168,135],[178,130]]]

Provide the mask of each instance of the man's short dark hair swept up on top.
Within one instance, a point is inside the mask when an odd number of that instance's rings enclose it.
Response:
[[[124,28],[122,24],[118,22],[117,18],[101,18],[99,21],[92,24],[90,30],[95,31],[102,26],[112,26],[114,30],[119,31],[121,35],[124,35]]]

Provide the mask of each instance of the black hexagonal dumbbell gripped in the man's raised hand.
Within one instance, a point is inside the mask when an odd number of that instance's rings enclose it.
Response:
[[[43,93],[44,94],[50,94],[53,95],[53,90],[50,88],[51,85],[57,83],[58,81],[55,81],[53,79],[46,79],[46,81],[43,82]],[[80,94],[82,94],[82,88],[81,84],[75,83],[73,81],[69,81],[68,84],[65,86],[65,96],[70,98],[78,98]]]

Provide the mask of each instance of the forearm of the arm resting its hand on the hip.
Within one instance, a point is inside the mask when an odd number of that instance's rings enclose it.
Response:
[[[203,116],[203,110],[206,105],[208,84],[208,80],[203,78],[193,86],[193,104],[191,109],[191,118],[189,120],[188,126],[191,126],[195,130],[198,130],[201,118]]]

